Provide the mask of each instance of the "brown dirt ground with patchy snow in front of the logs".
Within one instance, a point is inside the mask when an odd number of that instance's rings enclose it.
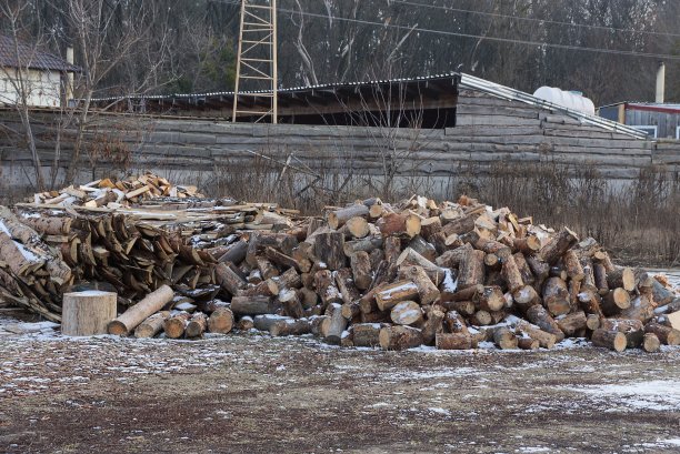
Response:
[[[0,452],[680,452],[678,347],[397,353],[33,331],[0,335]]]

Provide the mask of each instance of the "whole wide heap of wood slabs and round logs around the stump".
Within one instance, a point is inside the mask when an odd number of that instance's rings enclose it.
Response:
[[[319,218],[147,202],[106,213],[4,209],[0,296],[56,319],[66,287],[112,285],[122,314],[109,332],[139,337],[254,327],[387,350],[680,343],[680,297],[662,279],[614,265],[591,238],[467,196],[370,199]]]

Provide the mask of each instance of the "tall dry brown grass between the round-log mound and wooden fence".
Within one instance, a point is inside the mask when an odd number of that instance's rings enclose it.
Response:
[[[250,165],[227,163],[216,170],[209,192],[278,202],[304,213],[369,196],[389,201],[419,193],[457,200],[464,193],[493,206],[510,206],[534,222],[568,225],[583,238],[593,236],[622,263],[680,265],[680,180],[660,169],[643,170],[637,180],[621,183],[588,167],[502,163],[484,171],[460,168],[457,174],[463,176],[444,183],[406,175],[388,188],[380,176],[351,171],[332,159],[314,172],[320,175],[317,182],[291,169],[280,176],[280,164],[253,158]]]

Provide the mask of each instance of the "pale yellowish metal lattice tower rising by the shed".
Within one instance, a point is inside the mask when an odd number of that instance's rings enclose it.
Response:
[[[277,0],[243,0],[232,121],[257,117],[256,123],[277,123]]]

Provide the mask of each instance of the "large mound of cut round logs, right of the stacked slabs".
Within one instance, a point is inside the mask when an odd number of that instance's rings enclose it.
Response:
[[[661,282],[616,266],[593,239],[508,209],[371,199],[304,226],[212,249],[224,302],[154,314],[144,333],[194,336],[180,327],[209,331],[219,310],[230,327],[389,350],[550,349],[583,336],[618,351],[680,343],[680,299]]]

